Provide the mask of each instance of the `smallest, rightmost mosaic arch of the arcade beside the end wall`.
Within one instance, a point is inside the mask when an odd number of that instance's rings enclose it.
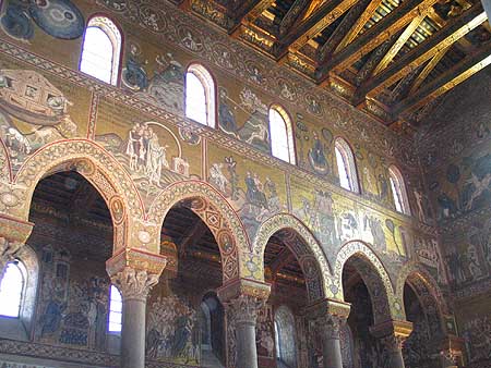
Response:
[[[448,306],[443,297],[441,290],[434,278],[417,262],[408,262],[404,265],[397,278],[396,297],[404,302],[404,286],[406,283],[412,285],[423,308],[428,309],[434,305],[439,318],[442,319],[444,314],[448,314]],[[404,308],[404,303],[403,303]]]

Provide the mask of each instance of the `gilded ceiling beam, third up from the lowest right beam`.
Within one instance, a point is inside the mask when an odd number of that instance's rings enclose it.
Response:
[[[343,72],[357,60],[362,59],[379,45],[403,29],[416,16],[427,12],[439,0],[406,0],[384,16],[379,23],[356,38],[345,49],[334,54],[316,71],[318,83],[324,82],[331,72]]]

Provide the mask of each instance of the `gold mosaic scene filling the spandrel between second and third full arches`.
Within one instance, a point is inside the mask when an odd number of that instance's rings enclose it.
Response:
[[[208,147],[207,181],[240,213],[249,235],[271,216],[287,211],[285,174],[277,169]]]

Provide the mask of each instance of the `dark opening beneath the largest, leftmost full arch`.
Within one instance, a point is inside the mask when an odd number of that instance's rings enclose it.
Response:
[[[113,226],[103,196],[77,172],[48,175],[34,191],[29,221],[35,225],[26,247],[38,266],[25,261],[25,253],[19,261],[37,294],[23,299],[33,315],[22,330],[36,343],[119,354],[120,333],[108,329],[106,260],[112,256]]]

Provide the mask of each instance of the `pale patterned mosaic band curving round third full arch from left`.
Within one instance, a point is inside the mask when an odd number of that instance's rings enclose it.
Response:
[[[291,241],[295,241],[295,237],[298,237],[299,241],[306,246],[306,252],[302,252],[302,254],[298,254],[299,252],[296,252],[296,247],[292,246],[290,246],[290,250],[296,255],[303,272],[307,272],[306,277],[314,278],[314,274],[311,274],[309,271],[309,269],[312,270],[312,266],[318,269],[323,296],[335,297],[331,287],[332,269],[326,257],[324,256],[324,252],[322,250],[320,243],[310,230],[292,214],[277,213],[261,224],[253,243],[254,254],[260,260],[259,267],[261,269],[264,268],[264,252],[266,249],[267,242],[275,233],[280,231],[292,232],[294,236],[291,236]],[[286,243],[288,244],[288,240]],[[302,261],[302,258],[304,258],[304,261]]]

